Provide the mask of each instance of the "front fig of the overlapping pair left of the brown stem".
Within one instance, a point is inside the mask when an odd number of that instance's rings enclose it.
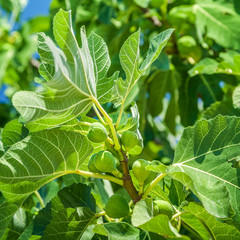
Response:
[[[122,174],[117,169],[117,161],[109,151],[97,153],[95,167],[101,172],[109,172],[117,177],[122,177]]]

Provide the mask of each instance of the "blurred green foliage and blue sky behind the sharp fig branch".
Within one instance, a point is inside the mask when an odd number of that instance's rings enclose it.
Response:
[[[140,157],[169,165],[184,127],[218,114],[239,116],[239,104],[234,98],[238,94],[236,87],[240,74],[238,1],[38,2],[44,6],[44,12],[48,9],[48,15],[34,16],[37,13],[33,9],[41,9],[34,0],[0,1],[0,127],[18,116],[10,101],[16,91],[41,89],[36,33],[45,32],[53,38],[51,23],[60,8],[72,10],[79,42],[82,25],[86,26],[88,34],[94,31],[104,38],[112,59],[109,76],[121,68],[119,50],[138,28],[142,32],[142,53],[146,52],[149,41],[157,33],[175,28],[164,52],[140,79],[129,100],[129,105],[136,100],[140,111],[140,131],[145,146]],[[33,14],[30,19],[25,7]],[[124,77],[123,72],[120,74]],[[106,104],[105,108],[110,113],[115,110],[112,104]],[[128,113],[124,115],[125,119]],[[89,116],[94,116],[94,112]],[[135,158],[130,160],[132,162]],[[47,203],[63,186],[83,181],[73,176],[60,178],[42,188],[40,193]],[[108,198],[108,193],[104,194]],[[191,197],[196,199],[194,195]],[[21,233],[22,229],[18,231]]]

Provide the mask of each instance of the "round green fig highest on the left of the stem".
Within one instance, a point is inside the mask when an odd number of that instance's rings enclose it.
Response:
[[[90,141],[95,143],[105,142],[108,138],[106,128],[99,122],[92,123],[87,137]]]

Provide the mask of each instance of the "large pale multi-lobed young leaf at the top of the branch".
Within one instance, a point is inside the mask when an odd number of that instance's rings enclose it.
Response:
[[[13,97],[13,104],[30,131],[54,127],[83,115],[97,98],[101,103],[109,101],[118,76],[115,73],[106,77],[110,60],[102,38],[91,34],[87,39],[82,27],[81,47],[78,46],[70,12],[61,9],[55,15],[53,31],[62,50],[43,33],[38,35],[38,51],[43,60],[40,73],[47,80],[48,92],[20,91]]]

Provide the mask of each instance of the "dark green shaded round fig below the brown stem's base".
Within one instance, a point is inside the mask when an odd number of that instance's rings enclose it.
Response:
[[[105,207],[106,214],[111,218],[122,218],[129,214],[129,205],[122,195],[112,195]]]

